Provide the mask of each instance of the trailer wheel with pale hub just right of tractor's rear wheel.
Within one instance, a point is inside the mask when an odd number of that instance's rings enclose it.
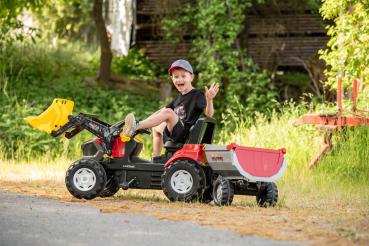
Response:
[[[218,206],[229,206],[233,202],[233,184],[222,176],[218,176],[213,185],[213,199]]]

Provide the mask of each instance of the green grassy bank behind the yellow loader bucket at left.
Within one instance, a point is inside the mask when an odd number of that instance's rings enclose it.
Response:
[[[74,112],[99,115],[108,123],[122,120],[128,112],[138,118],[157,110],[158,98],[118,90],[102,90],[81,83],[95,69],[97,54],[78,45],[58,48],[41,44],[15,45],[0,53],[0,146],[4,158],[27,159],[49,155],[78,156],[80,144],[91,138],[84,133],[73,141],[52,139],[24,121],[39,115],[54,98],[75,101]],[[69,146],[69,147],[68,147]]]

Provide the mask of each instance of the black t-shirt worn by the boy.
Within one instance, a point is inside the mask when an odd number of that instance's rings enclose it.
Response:
[[[199,119],[204,108],[206,99],[204,93],[198,89],[192,89],[187,94],[179,94],[169,103],[166,108],[171,108],[187,127],[191,127]]]

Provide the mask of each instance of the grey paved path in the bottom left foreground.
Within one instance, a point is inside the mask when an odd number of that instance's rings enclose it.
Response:
[[[0,190],[0,245],[296,245]]]

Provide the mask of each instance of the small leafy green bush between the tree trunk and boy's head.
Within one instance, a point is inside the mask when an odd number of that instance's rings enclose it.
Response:
[[[160,65],[148,61],[142,50],[132,48],[128,56],[114,57],[112,71],[136,79],[150,80],[165,74]]]

